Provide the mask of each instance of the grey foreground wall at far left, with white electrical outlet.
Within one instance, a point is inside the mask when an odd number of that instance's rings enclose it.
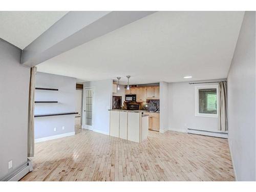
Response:
[[[27,162],[30,69],[19,64],[20,52],[0,39],[0,180]]]

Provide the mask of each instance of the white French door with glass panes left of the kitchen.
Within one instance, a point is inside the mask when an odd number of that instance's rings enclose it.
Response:
[[[83,128],[93,130],[94,88],[84,89]]]

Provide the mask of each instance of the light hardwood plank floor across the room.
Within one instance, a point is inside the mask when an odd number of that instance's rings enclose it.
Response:
[[[88,130],[35,143],[21,181],[233,181],[227,139],[150,131],[135,143]]]

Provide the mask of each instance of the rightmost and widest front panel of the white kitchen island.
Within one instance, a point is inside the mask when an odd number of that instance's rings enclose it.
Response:
[[[140,142],[140,113],[128,113],[128,140]]]

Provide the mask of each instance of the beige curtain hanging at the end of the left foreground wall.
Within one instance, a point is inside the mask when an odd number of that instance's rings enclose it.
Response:
[[[30,68],[29,116],[28,116],[28,157],[34,156],[35,75],[36,75],[36,67]]]

